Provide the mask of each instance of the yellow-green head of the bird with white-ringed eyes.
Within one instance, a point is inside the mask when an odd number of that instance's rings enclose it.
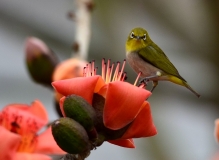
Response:
[[[148,32],[143,28],[131,30],[126,41],[126,51],[136,51],[146,47],[151,42]]]

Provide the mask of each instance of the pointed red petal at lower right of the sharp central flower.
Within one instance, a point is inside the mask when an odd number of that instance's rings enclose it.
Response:
[[[140,138],[149,137],[157,134],[157,130],[152,120],[150,111],[150,105],[148,102],[144,102],[142,109],[127,129],[122,138]]]

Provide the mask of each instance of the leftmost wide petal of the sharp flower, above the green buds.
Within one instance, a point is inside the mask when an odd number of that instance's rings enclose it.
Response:
[[[92,104],[93,92],[104,85],[100,76],[76,77],[55,81],[52,83],[57,92],[64,96],[76,94],[86,99]]]

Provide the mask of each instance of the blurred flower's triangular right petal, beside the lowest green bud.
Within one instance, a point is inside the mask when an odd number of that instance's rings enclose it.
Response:
[[[43,154],[65,154],[62,149],[56,144],[52,136],[51,127],[49,127],[45,132],[37,137],[36,148],[34,153],[43,153]]]

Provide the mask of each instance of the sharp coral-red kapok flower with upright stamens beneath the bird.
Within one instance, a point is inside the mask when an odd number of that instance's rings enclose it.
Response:
[[[119,71],[120,63],[118,62],[113,74],[114,64],[111,65],[110,60],[106,64],[103,60],[102,76],[100,76],[96,74],[97,68],[93,61],[84,68],[84,77],[55,81],[52,85],[60,94],[79,95],[93,107],[102,103],[95,95],[103,97],[102,123],[104,126],[110,132],[125,128],[125,132],[122,132],[119,138],[109,134],[106,140],[119,146],[134,148],[132,138],[153,136],[157,134],[157,131],[152,120],[150,104],[145,101],[151,93],[144,89],[144,84],[140,87],[135,86],[139,76],[134,85],[124,82],[126,79],[126,73],[123,72],[124,66],[125,61]],[[60,108],[65,116],[64,99],[65,97],[60,100]],[[101,132],[98,126],[96,129],[97,132]]]

